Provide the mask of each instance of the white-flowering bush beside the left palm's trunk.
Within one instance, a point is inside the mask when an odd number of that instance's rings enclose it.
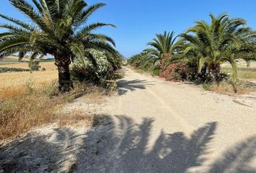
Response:
[[[80,80],[96,81],[105,78],[110,69],[110,63],[105,53],[89,49],[86,50],[95,59],[97,66],[93,66],[89,58],[76,58],[72,62],[72,76]]]

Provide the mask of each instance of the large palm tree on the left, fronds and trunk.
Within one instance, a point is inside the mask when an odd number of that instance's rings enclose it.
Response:
[[[88,6],[84,0],[32,0],[34,8],[25,0],[9,1],[32,23],[0,14],[14,24],[0,25],[8,29],[0,33],[0,56],[17,52],[22,55],[27,51],[51,54],[59,71],[60,92],[68,92],[72,88],[69,74],[72,59],[88,57],[95,64],[87,51],[90,48],[116,54],[111,37],[93,33],[99,27],[114,25],[100,22],[86,25],[90,15],[104,6],[103,3]]]

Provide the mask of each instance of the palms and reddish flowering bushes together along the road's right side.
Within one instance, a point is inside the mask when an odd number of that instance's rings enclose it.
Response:
[[[235,93],[241,93],[247,86],[241,77],[255,75],[249,64],[256,61],[256,32],[247,27],[244,19],[229,14],[210,14],[210,19],[209,24],[198,20],[176,37],[174,32],[156,35],[147,44],[150,48],[129,58],[128,63],[167,81],[192,81],[204,89],[226,83]],[[241,61],[249,72],[238,69]],[[230,66],[225,70],[223,64]]]

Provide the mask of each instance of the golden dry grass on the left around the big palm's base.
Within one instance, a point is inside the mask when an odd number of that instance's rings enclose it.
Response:
[[[45,77],[46,78],[46,77]],[[74,84],[67,94],[57,92],[57,81],[35,81],[25,85],[1,88],[0,92],[0,140],[26,133],[46,123],[59,125],[93,125],[96,117],[75,110],[69,115],[58,112],[64,103],[92,93],[104,94],[105,90],[90,84]],[[89,97],[89,98],[90,98]],[[91,102],[98,103],[97,97]]]

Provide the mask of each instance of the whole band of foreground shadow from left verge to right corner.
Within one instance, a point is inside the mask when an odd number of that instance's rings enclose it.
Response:
[[[189,138],[182,132],[168,134],[162,130],[153,148],[147,151],[154,120],[144,118],[137,124],[123,115],[114,118],[115,121],[104,116],[100,125],[82,134],[75,133],[72,128],[56,128],[49,136],[25,136],[22,141],[0,147],[3,153],[0,163],[4,161],[0,168],[9,172],[51,172],[63,171],[63,165],[68,164],[70,172],[183,173],[200,167],[208,159],[209,144],[217,128],[216,122],[207,123]],[[55,140],[49,143],[46,139],[51,136],[55,136]],[[13,150],[20,153],[12,154]],[[223,154],[214,161],[210,171],[205,172],[256,172],[248,165],[255,158],[255,151],[256,136],[252,136]],[[40,160],[47,164],[38,165]]]

